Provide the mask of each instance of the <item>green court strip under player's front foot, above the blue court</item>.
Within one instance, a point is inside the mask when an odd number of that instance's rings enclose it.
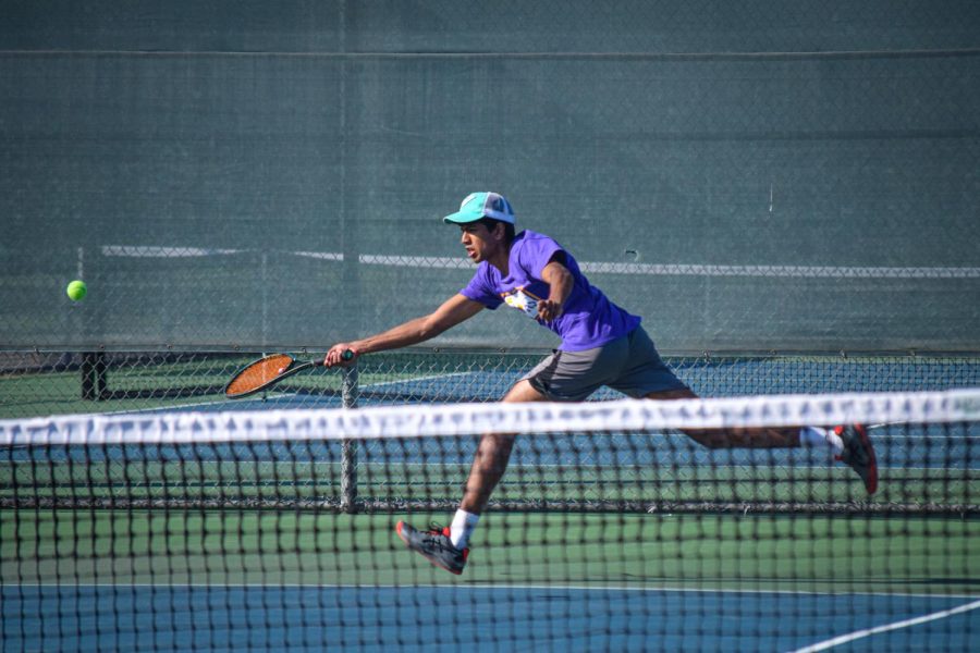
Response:
[[[394,525],[446,515],[10,510],[4,584],[519,584],[980,592],[980,522],[854,517],[490,513],[455,577]]]

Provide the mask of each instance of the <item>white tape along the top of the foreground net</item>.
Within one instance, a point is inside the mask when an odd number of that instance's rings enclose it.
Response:
[[[980,420],[980,390],[583,404],[456,404],[356,410],[74,415],[0,420],[0,444],[352,440],[482,433],[948,423]]]

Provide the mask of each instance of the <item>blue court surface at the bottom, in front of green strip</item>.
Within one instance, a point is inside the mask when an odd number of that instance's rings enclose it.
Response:
[[[976,650],[968,597],[537,587],[3,588],[7,650]],[[873,630],[873,632],[871,632]],[[792,634],[791,634],[792,633]]]

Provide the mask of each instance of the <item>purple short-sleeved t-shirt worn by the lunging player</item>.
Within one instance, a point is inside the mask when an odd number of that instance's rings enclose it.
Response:
[[[547,299],[551,289],[541,280],[541,271],[559,251],[564,252],[565,267],[575,283],[562,315],[540,323],[561,336],[560,349],[581,352],[599,347],[639,325],[638,317],[629,315],[610,301],[602,291],[589,284],[578,263],[561,245],[532,231],[523,231],[514,238],[506,276],[483,261],[477,267],[469,284],[460,292],[487,308],[494,309],[506,304],[537,319],[538,301]]]

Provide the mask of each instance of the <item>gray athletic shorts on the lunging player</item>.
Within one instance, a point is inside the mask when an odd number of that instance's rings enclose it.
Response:
[[[555,350],[522,380],[551,402],[580,402],[603,385],[634,398],[687,389],[660,359],[642,326],[595,349]]]

